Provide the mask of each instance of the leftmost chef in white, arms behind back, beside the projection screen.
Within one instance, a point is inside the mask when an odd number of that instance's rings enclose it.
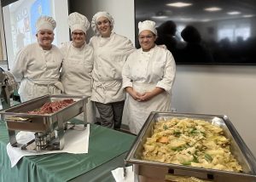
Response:
[[[18,93],[22,102],[45,94],[61,94],[59,82],[61,51],[52,44],[56,22],[52,17],[41,16],[36,23],[38,43],[22,48],[16,55],[11,73],[20,82]]]

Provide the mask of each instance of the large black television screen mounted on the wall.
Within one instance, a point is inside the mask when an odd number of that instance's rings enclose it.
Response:
[[[256,1],[135,0],[137,24],[156,22],[157,44],[177,64],[256,65]]]

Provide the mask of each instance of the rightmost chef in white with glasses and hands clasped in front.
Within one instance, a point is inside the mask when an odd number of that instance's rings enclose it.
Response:
[[[141,48],[128,57],[122,71],[123,88],[128,93],[127,119],[133,134],[139,133],[151,111],[171,111],[176,71],[172,53],[154,43],[154,21],[139,22],[138,28]]]

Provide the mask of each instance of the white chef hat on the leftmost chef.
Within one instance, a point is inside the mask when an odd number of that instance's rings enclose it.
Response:
[[[52,17],[41,16],[37,20],[36,27],[37,27],[37,31],[41,31],[45,29],[54,31],[56,27],[56,21]]]

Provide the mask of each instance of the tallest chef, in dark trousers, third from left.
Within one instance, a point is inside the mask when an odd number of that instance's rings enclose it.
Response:
[[[128,55],[135,50],[131,41],[113,31],[113,17],[107,12],[96,13],[91,21],[96,36],[90,39],[94,49],[93,88],[101,125],[119,129],[125,104],[122,68]]]

